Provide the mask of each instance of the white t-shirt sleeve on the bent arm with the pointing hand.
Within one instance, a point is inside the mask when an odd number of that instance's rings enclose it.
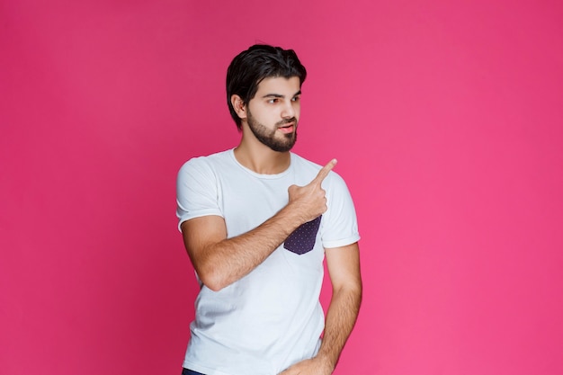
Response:
[[[176,217],[178,229],[189,219],[223,216],[219,208],[217,178],[202,158],[186,162],[176,180]]]

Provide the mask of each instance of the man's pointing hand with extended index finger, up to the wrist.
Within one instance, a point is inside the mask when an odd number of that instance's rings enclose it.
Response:
[[[290,201],[288,206],[295,210],[294,212],[303,223],[317,219],[326,212],[326,192],[321,187],[321,183],[335,165],[336,159],[332,159],[318,171],[317,177],[307,185],[291,185],[289,187]]]

